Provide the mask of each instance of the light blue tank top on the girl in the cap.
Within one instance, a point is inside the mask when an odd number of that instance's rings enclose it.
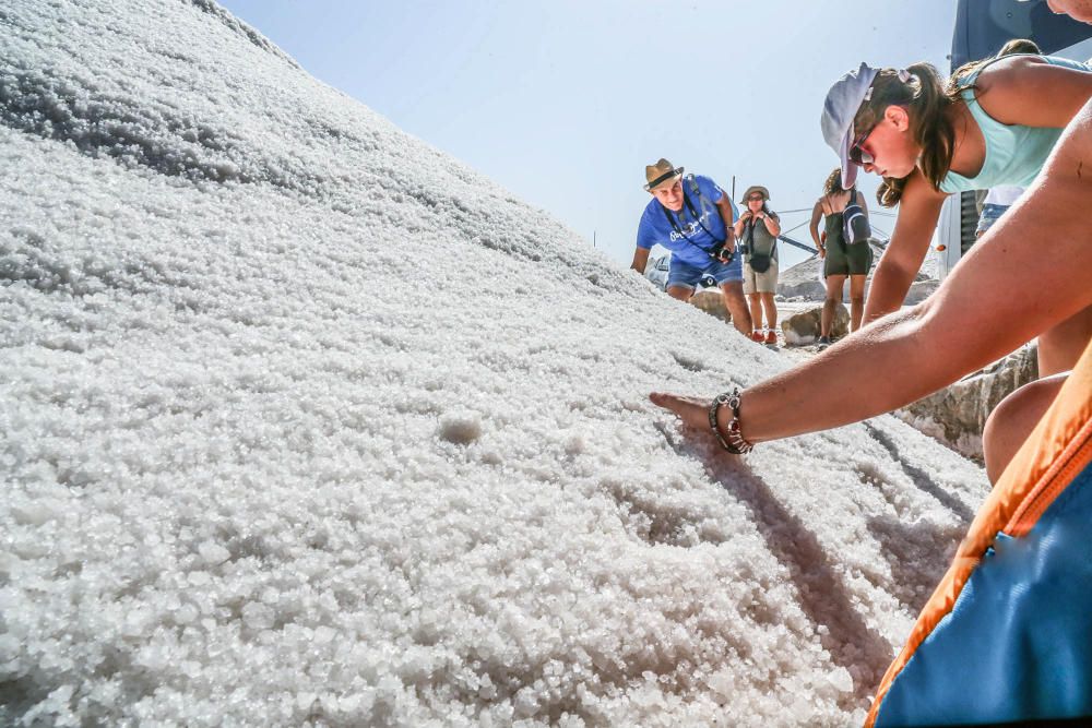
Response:
[[[1065,65],[1079,71],[1090,70],[1084,63],[1071,61],[1068,58],[1058,58],[1057,56],[1043,56],[1042,58],[1051,65]],[[964,83],[974,83],[983,69],[993,62],[989,61],[970,74]],[[982,170],[974,178],[949,171],[940,183],[940,190],[951,194],[966,190],[986,190],[997,184],[1018,184],[1020,187],[1031,184],[1031,181],[1043,168],[1046,157],[1054,150],[1058,138],[1061,136],[1063,130],[1048,127],[1004,124],[983,110],[974,98],[973,88],[964,91],[963,98],[986,140],[986,159],[982,165]]]

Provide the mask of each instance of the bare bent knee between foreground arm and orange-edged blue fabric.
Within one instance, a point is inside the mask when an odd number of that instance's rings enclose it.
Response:
[[[1068,377],[1069,372],[1065,372],[1024,384],[1001,399],[989,414],[982,430],[982,455],[990,484],[1001,477]]]

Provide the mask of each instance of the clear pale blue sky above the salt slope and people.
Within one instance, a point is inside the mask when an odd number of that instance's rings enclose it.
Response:
[[[219,1],[621,264],[661,156],[725,189],[735,175],[736,199],[759,183],[774,210],[810,210],[836,164],[819,132],[830,84],[862,60],[947,73],[956,19],[956,0]]]

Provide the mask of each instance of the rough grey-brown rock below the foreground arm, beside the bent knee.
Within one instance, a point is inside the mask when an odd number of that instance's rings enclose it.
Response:
[[[1037,347],[1024,347],[982,371],[895,410],[895,417],[952,450],[982,461],[982,430],[994,407],[1038,377]]]

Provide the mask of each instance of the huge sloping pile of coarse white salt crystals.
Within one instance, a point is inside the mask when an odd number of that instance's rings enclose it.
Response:
[[[842,725],[985,493],[684,437],[784,362],[209,0],[7,0],[0,120],[2,724]]]

